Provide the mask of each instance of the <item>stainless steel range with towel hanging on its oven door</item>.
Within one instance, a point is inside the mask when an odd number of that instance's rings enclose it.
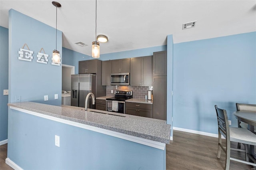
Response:
[[[106,99],[106,111],[125,114],[125,101],[132,98],[132,91],[115,90],[115,97]]]

